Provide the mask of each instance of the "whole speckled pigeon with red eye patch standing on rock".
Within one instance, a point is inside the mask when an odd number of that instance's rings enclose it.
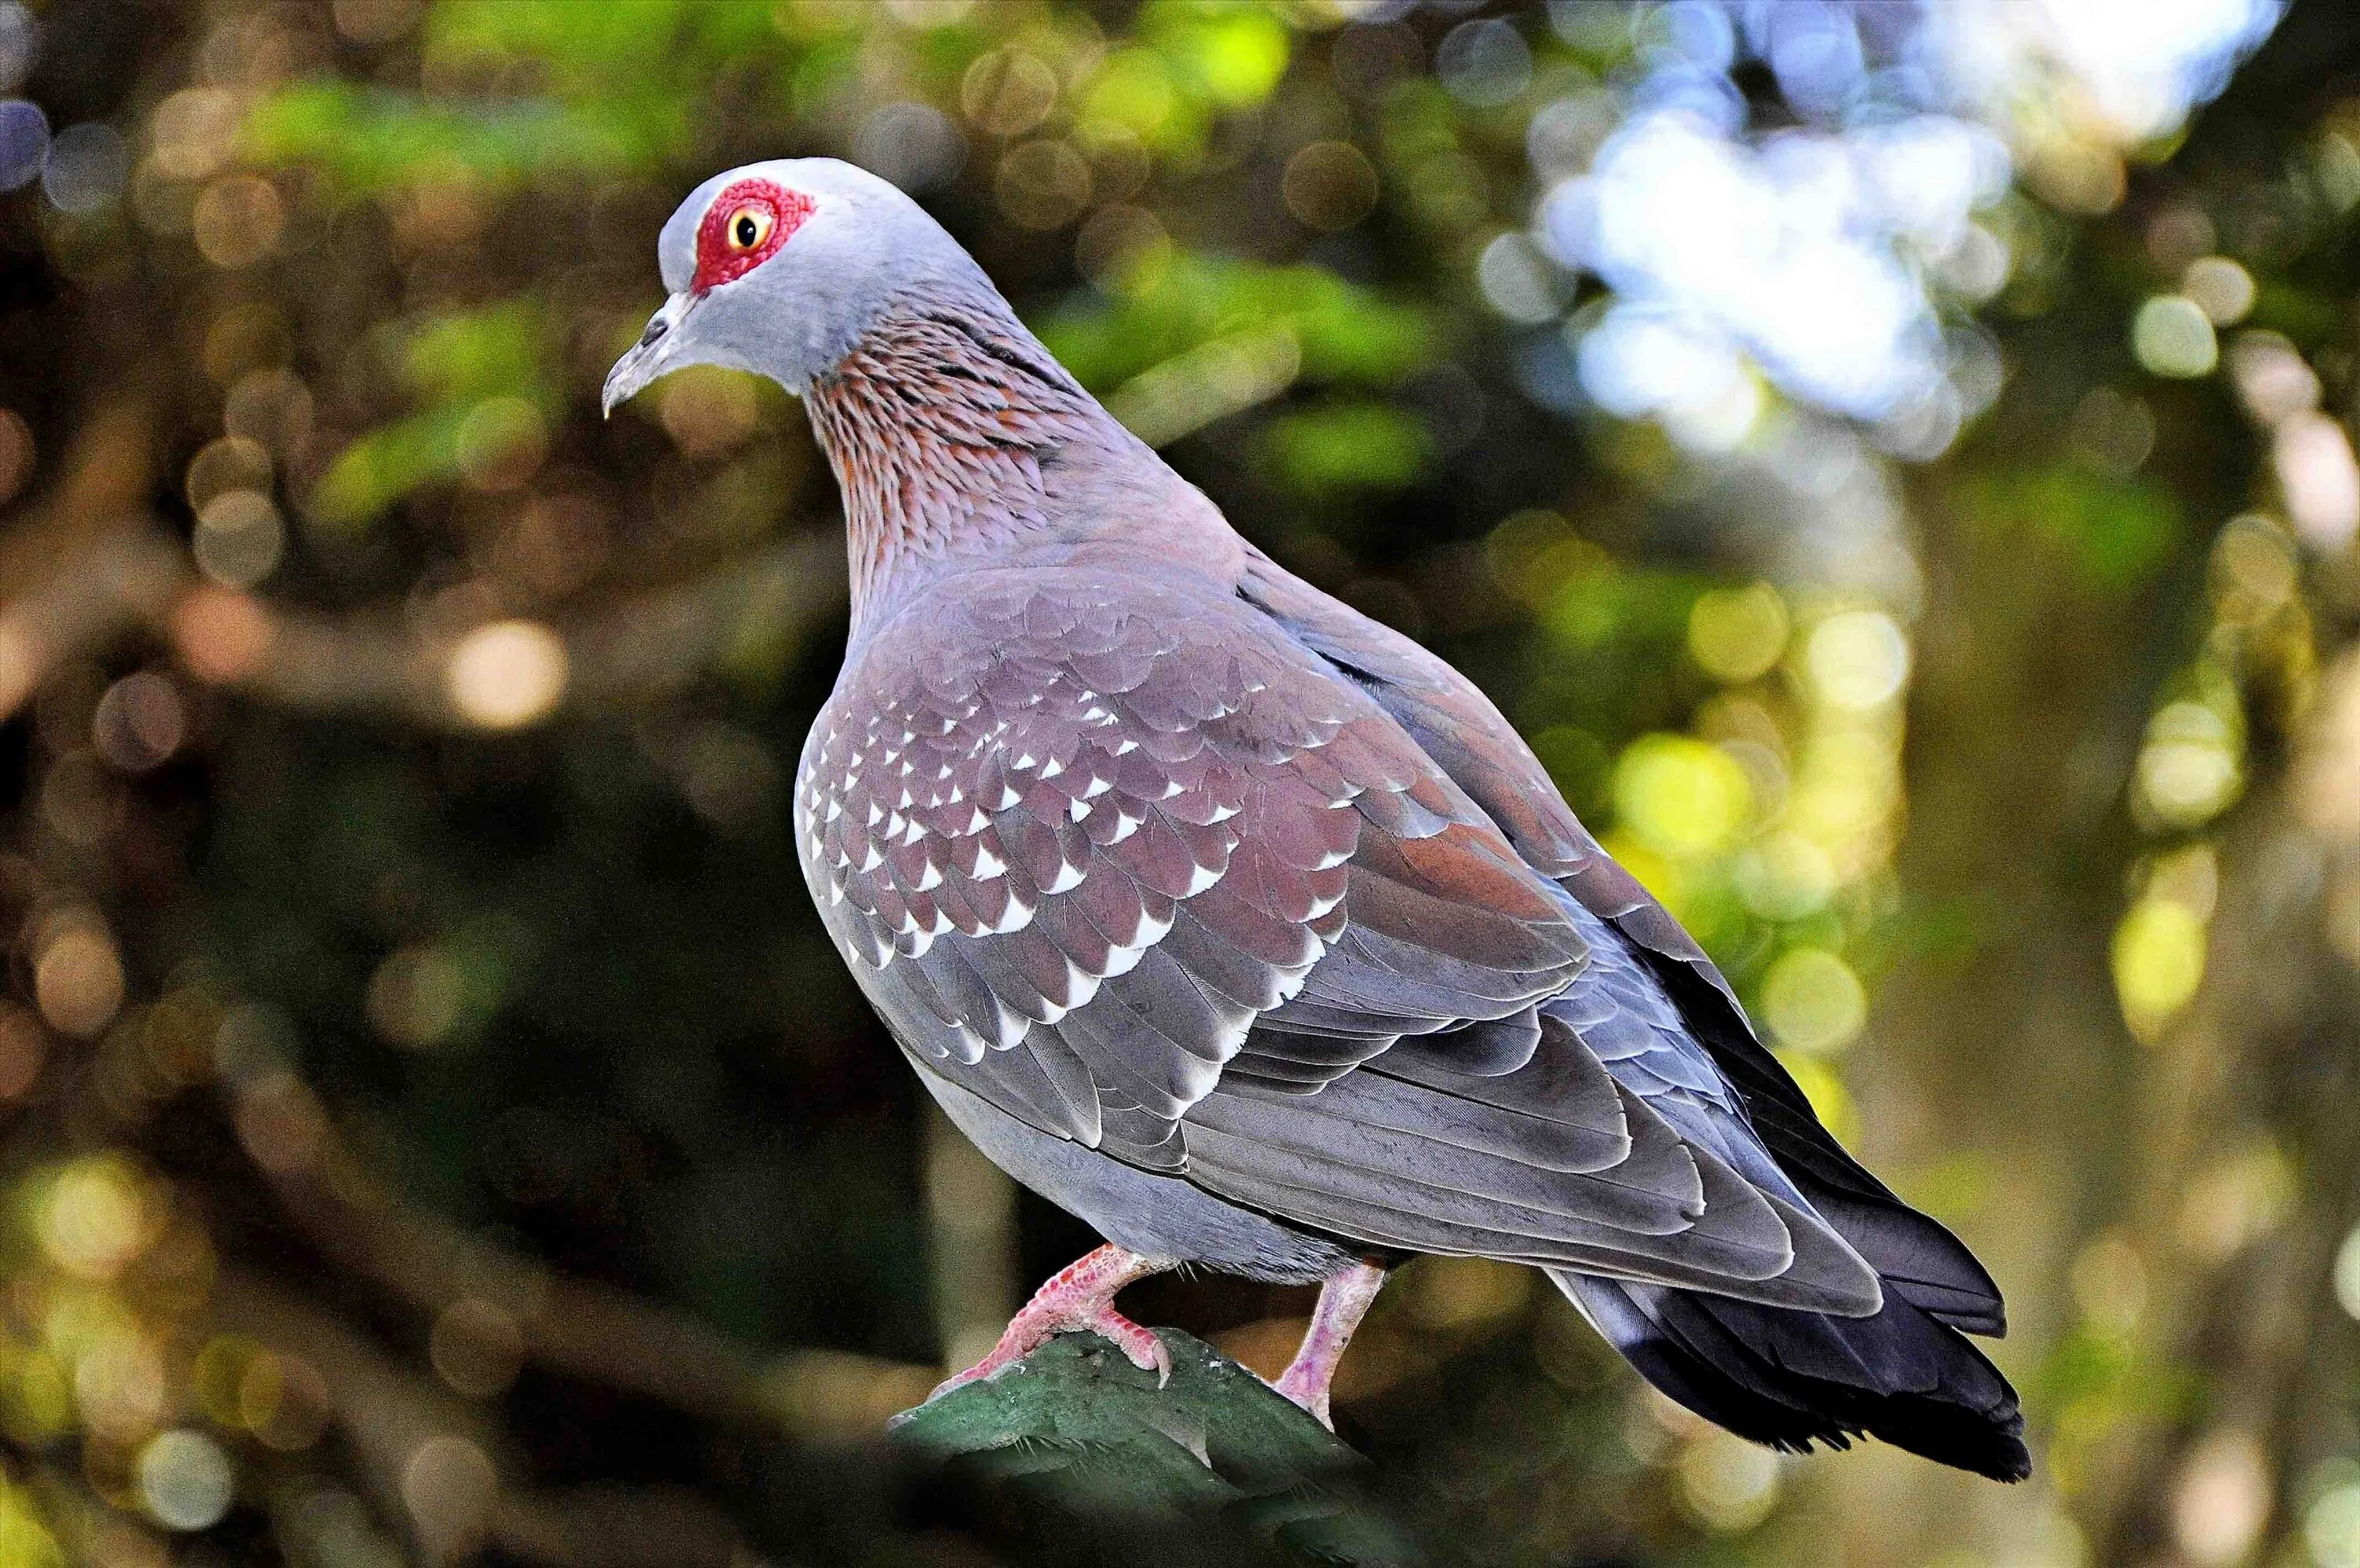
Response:
[[[684,364],[805,399],[852,635],[802,871],[920,1082],[1090,1221],[986,1377],[1197,1263],[1319,1282],[1326,1419],[1383,1270],[1529,1263],[1657,1389],[1779,1448],[2027,1471],[1961,1337],[1999,1289],[1820,1126],[1704,952],[1437,656],[1277,567],[892,184],[701,184],[607,406]]]

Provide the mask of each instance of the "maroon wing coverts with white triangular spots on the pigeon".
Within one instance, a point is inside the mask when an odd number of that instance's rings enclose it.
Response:
[[[1307,1089],[1579,971],[1560,895],[1251,609],[1076,569],[927,614],[814,725],[798,850],[904,1046],[1041,1131],[1173,1169],[1225,1072]]]

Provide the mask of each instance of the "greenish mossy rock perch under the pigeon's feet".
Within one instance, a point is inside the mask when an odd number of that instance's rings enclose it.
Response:
[[[1171,1381],[1097,1334],[1045,1346],[890,1424],[986,1490],[1090,1516],[1234,1525],[1319,1563],[1418,1563],[1362,1490],[1366,1459],[1213,1346],[1156,1329]]]

